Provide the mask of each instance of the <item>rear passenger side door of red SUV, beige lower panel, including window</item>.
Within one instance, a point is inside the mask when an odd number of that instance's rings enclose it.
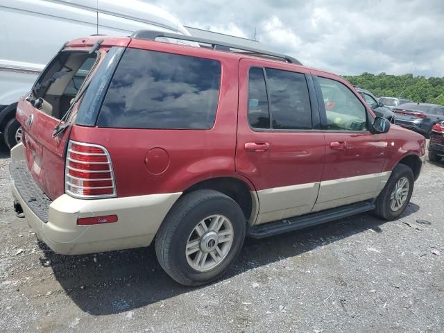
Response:
[[[311,211],[325,142],[307,69],[242,59],[236,169],[257,189],[265,223]]]

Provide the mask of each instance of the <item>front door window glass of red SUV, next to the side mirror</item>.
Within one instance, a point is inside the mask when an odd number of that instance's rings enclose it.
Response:
[[[327,130],[367,130],[366,108],[347,86],[321,77],[318,83],[325,104]]]

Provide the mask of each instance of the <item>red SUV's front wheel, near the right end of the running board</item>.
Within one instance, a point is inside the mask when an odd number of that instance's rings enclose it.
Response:
[[[405,164],[398,164],[375,201],[375,214],[387,221],[398,219],[409,205],[414,181],[413,171]]]

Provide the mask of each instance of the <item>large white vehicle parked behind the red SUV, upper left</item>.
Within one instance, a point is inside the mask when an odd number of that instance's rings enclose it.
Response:
[[[28,94],[67,40],[93,34],[127,36],[142,28],[189,35],[169,13],[135,0],[3,0],[0,22],[0,44],[8,46],[0,48],[0,132],[9,148],[22,140],[15,120],[19,97]]]

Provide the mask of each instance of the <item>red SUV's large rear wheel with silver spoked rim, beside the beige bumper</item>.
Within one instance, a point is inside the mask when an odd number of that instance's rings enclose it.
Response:
[[[221,277],[244,245],[246,220],[241,207],[218,191],[202,189],[178,200],[155,239],[160,266],[185,286]]]

